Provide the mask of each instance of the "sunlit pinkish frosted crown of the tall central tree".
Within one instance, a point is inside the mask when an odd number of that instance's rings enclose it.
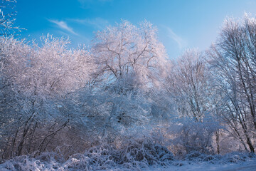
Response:
[[[134,86],[159,86],[166,70],[166,51],[156,36],[156,28],[148,21],[139,27],[122,21],[96,33],[93,56],[100,65],[100,73],[111,82],[120,78],[134,78]],[[128,81],[128,82],[129,82]],[[130,84],[130,83],[127,83]]]

